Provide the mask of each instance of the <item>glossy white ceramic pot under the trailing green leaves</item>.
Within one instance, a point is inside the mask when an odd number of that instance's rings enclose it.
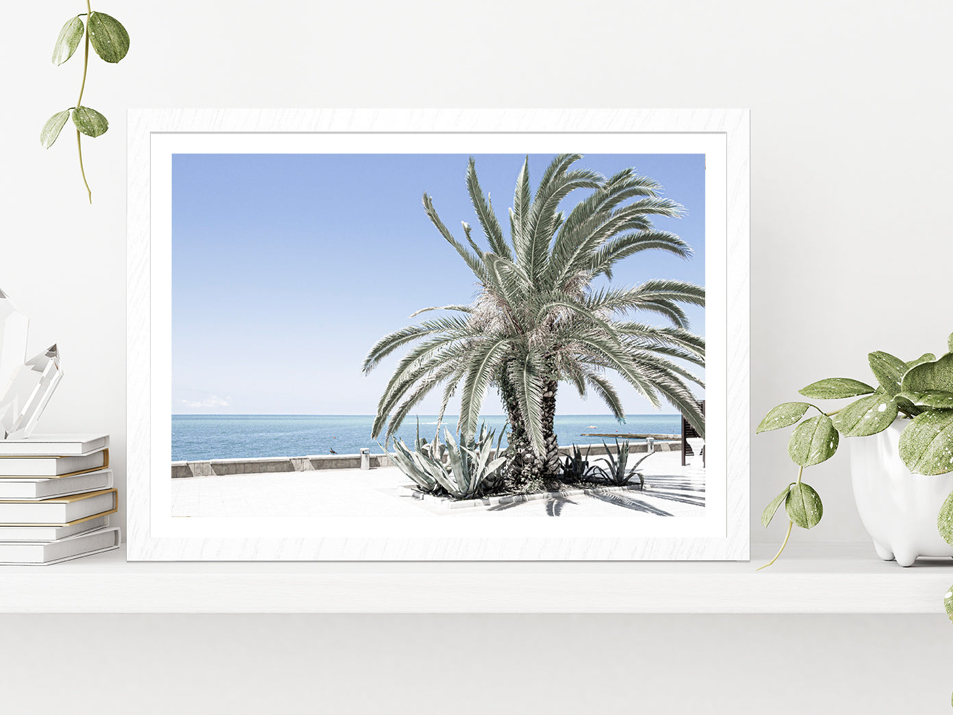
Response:
[[[850,473],[863,527],[884,561],[913,565],[918,556],[953,556],[937,531],[937,514],[953,491],[953,473],[913,474],[900,459],[908,419],[870,437],[852,437]]]

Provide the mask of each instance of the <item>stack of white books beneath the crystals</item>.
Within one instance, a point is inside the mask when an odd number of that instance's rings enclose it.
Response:
[[[108,435],[0,439],[0,563],[49,564],[118,548]]]

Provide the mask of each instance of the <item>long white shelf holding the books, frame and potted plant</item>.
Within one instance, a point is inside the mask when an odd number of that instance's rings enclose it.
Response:
[[[126,562],[0,567],[3,613],[943,613],[953,560],[862,544],[749,562]]]

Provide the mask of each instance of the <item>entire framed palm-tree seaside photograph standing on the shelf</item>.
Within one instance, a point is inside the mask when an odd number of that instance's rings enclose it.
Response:
[[[130,112],[129,559],[747,560],[748,135]]]

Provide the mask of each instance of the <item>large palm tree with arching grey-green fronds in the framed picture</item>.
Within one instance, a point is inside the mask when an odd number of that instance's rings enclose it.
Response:
[[[473,302],[424,308],[446,311],[382,337],[364,360],[369,373],[395,350],[411,346],[397,364],[377,405],[373,433],[389,438],[414,406],[442,387],[441,417],[460,389],[458,429],[476,432],[487,388],[496,386],[510,423],[510,471],[518,481],[558,473],[553,419],[560,381],[579,395],[601,398],[616,419],[625,412],[610,375],[622,378],[657,408],[664,398],[704,435],[704,417],[691,383],[700,378],[684,363],[704,365],[704,338],[688,330],[682,304],[704,305],[704,289],[680,280],[649,280],[634,287],[611,283],[618,261],[641,251],[689,257],[679,238],[652,227],[654,215],[681,215],[681,207],[659,195],[659,184],[632,169],[604,177],[572,169],[579,154],[560,154],[531,195],[529,157],[517,177],[510,236],[503,236],[493,205],[480,188],[476,164],[467,168],[467,191],[488,248],[463,222],[465,242],[440,220],[431,197],[423,205],[437,231],[473,271]],[[589,194],[568,213],[560,202],[577,190]],[[632,312],[655,314],[670,325],[628,319]]]

